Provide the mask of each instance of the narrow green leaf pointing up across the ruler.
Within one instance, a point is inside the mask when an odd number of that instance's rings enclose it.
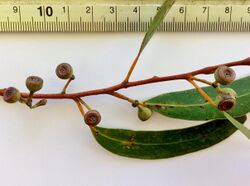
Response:
[[[168,13],[168,11],[170,10],[170,8],[173,6],[174,3],[175,3],[175,0],[166,0],[161,5],[159,11],[157,12],[157,14],[155,15],[153,21],[151,22],[151,24],[150,24],[150,26],[149,26],[149,28],[147,30],[147,33],[144,36],[144,39],[142,41],[139,53],[141,53],[143,51],[143,49],[146,47],[149,40],[152,38],[155,31],[160,26],[160,24],[162,23],[164,17],[166,16],[166,14]]]

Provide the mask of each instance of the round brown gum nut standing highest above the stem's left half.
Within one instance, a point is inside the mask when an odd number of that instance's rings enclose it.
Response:
[[[73,68],[68,63],[61,63],[56,67],[56,75],[60,79],[70,79],[73,77]]]

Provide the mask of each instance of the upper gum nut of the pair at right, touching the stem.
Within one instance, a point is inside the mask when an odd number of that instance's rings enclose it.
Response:
[[[222,85],[227,85],[235,80],[236,74],[232,68],[229,68],[227,66],[220,66],[214,72],[214,77],[216,82]]]

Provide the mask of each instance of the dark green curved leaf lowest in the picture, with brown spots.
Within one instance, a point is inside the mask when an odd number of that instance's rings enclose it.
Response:
[[[244,123],[246,116],[238,118]],[[237,129],[228,120],[169,131],[132,131],[92,128],[97,142],[105,149],[139,159],[170,158],[208,148],[232,135]]]

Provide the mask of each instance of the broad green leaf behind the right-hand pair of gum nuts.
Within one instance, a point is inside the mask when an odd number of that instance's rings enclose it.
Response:
[[[250,111],[250,76],[236,80],[229,86],[237,93],[236,106],[228,113],[240,117]],[[213,87],[202,88],[215,100],[217,92]],[[217,108],[204,101],[196,89],[162,94],[145,102],[149,108],[162,115],[186,120],[225,119]]]

